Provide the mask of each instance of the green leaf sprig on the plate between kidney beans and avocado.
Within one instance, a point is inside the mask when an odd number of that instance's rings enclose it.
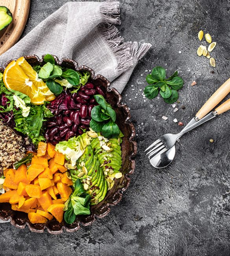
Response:
[[[115,123],[116,112],[102,95],[94,95],[94,98],[99,105],[91,111],[90,127],[108,139],[118,137],[121,131]]]

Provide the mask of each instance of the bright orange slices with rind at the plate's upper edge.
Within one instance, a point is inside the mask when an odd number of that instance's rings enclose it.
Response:
[[[38,77],[37,72],[24,57],[17,61],[11,61],[7,65],[3,74],[3,82],[8,89],[28,95],[31,98],[31,103],[36,105],[55,99],[55,95],[49,90],[46,83]]]

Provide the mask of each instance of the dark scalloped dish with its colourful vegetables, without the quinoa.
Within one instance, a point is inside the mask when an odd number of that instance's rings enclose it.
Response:
[[[107,215],[129,186],[137,150],[121,95],[72,59],[29,55],[5,66],[0,119],[24,150],[0,169],[0,219],[59,234]]]

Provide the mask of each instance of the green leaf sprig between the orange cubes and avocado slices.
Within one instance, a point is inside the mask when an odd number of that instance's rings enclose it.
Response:
[[[77,179],[74,184],[74,192],[64,204],[66,223],[72,224],[77,215],[89,215],[90,199],[91,196],[86,193],[81,181]]]

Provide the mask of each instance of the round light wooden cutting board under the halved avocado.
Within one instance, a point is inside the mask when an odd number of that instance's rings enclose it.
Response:
[[[29,15],[30,0],[0,0],[0,6],[6,6],[13,15],[13,21],[0,31],[0,55],[17,43]]]

